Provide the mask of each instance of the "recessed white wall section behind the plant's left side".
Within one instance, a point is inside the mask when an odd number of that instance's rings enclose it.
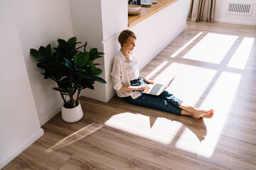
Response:
[[[57,38],[68,40],[73,36],[70,4],[68,0],[11,0],[9,11],[14,15],[38,118],[43,125],[60,112],[63,101],[52,89],[55,82],[43,79],[43,70],[36,66],[30,48],[46,47],[48,43],[53,47]]]

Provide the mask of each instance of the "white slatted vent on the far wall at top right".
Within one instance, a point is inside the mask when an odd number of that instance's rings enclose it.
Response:
[[[251,15],[252,14],[252,2],[238,2],[238,1],[230,1],[228,3],[228,12],[231,14],[239,14],[239,15]]]

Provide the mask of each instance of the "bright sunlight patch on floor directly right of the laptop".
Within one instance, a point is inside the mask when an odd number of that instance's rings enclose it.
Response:
[[[206,96],[206,90],[217,74],[215,69],[179,63],[172,63],[166,70],[176,75],[168,91],[193,106],[201,100],[201,96]]]

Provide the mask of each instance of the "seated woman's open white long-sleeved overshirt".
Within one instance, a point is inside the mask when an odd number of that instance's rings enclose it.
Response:
[[[134,60],[136,60],[134,58]],[[131,86],[127,68],[127,60],[121,51],[114,57],[113,66],[112,66],[112,81],[114,90],[117,91],[117,96],[119,97],[127,97],[131,96],[132,98],[137,98],[142,94],[139,91],[121,91],[121,87]]]

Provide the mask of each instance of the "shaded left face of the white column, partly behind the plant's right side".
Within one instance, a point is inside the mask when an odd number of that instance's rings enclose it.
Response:
[[[79,41],[83,43],[87,41],[87,50],[89,47],[97,47],[99,52],[103,52],[101,0],[70,0],[70,11],[73,34]],[[100,77],[105,79],[104,58],[95,62],[101,64],[98,66],[103,70]],[[81,95],[106,101],[105,84],[96,82],[94,86],[95,90],[83,89]]]

